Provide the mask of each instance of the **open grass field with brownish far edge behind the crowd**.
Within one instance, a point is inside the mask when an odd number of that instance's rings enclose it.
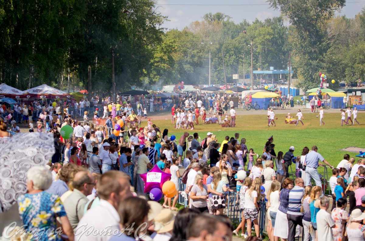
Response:
[[[341,116],[339,113],[325,113],[323,121],[324,126],[319,126],[319,118],[316,114],[303,114],[304,126],[301,123],[298,126],[295,124],[285,124],[285,115],[278,114],[276,127],[267,127],[266,115],[241,115],[237,116],[236,127],[222,127],[218,124],[196,125],[195,130],[188,130],[189,134],[194,132],[199,133],[201,139],[206,137],[208,131],[214,133],[218,142],[221,143],[226,135],[232,137],[234,133],[239,133],[239,141],[241,138],[246,138],[247,148],[253,148],[259,155],[262,154],[262,149],[266,140],[273,135],[275,151],[283,151],[285,154],[290,146],[295,147],[294,155],[300,155],[304,146],[318,146],[318,152],[331,163],[336,166],[343,159],[343,155],[347,152],[340,149],[356,146],[365,150],[365,113],[358,113],[358,121],[362,125],[355,126],[340,126]],[[169,129],[169,136],[176,135],[176,139],[180,138],[184,130],[174,129],[171,125],[171,120],[154,120],[154,124],[160,127],[163,131]],[[200,119],[199,119],[200,123]],[[350,157],[355,157],[356,153],[348,153]]]

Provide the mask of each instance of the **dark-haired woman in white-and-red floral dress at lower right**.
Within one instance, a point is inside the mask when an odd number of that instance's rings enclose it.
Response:
[[[332,210],[331,217],[336,224],[336,226],[332,229],[333,241],[342,241],[343,228],[345,228],[346,222],[349,221],[349,213],[345,211],[346,205],[347,200],[340,198],[337,200],[337,206],[339,208],[335,208]]]

